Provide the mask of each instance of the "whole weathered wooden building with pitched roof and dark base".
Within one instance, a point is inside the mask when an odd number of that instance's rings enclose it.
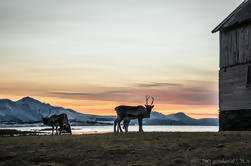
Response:
[[[251,130],[251,0],[245,0],[212,32],[218,31],[219,130]]]

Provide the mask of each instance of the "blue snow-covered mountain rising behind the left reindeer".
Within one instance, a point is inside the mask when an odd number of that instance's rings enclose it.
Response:
[[[48,117],[60,113],[66,113],[68,119],[73,122],[96,122],[97,118],[103,118],[103,116],[81,114],[63,107],[54,107],[31,97],[25,97],[16,102],[8,99],[0,100],[0,122],[42,121],[42,117]]]

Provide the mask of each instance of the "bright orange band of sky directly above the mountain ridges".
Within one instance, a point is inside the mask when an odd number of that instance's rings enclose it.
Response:
[[[0,95],[1,98],[9,98],[13,101],[19,100],[21,96],[8,96]],[[120,104],[125,105],[139,105],[144,104],[144,98],[140,103],[130,102],[112,102],[101,100],[77,100],[77,99],[61,99],[57,97],[41,97],[30,96],[41,102],[50,103],[53,106],[62,106],[65,108],[71,108],[78,112],[86,114],[98,114],[98,115],[115,115],[114,108]],[[163,114],[172,114],[177,112],[185,112],[187,115],[193,118],[215,118],[218,117],[217,106],[198,106],[198,105],[177,105],[177,104],[157,104],[156,102],[154,111],[161,112]],[[202,111],[203,110],[203,111]]]

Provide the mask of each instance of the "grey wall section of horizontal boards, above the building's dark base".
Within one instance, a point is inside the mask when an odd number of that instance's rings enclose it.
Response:
[[[237,65],[220,70],[220,111],[251,109],[251,87],[247,85],[250,65]]]

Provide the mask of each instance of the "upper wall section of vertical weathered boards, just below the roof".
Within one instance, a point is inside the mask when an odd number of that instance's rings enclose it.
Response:
[[[220,32],[220,68],[251,62],[251,24]]]

